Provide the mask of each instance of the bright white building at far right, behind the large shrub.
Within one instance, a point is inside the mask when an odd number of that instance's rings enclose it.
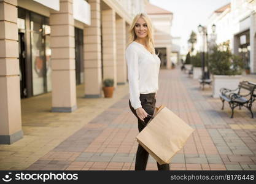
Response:
[[[216,25],[215,34],[211,33]],[[255,2],[231,0],[230,4],[215,10],[208,21],[208,30],[216,44],[229,44],[231,51],[242,56],[250,73],[256,74],[256,13]]]

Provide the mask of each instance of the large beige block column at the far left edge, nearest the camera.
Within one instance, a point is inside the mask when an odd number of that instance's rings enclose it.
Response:
[[[0,1],[0,144],[23,137],[17,17],[17,1]]]

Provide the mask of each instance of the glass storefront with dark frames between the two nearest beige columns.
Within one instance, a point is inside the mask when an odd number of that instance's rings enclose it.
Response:
[[[51,91],[49,18],[18,7],[18,41],[21,98]]]

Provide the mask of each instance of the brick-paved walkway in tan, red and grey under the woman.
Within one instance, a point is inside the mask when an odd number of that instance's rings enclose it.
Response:
[[[172,159],[171,170],[256,170],[256,120],[246,109],[236,110],[231,119],[230,109],[220,110],[220,99],[211,97],[211,88],[201,91],[198,82],[179,69],[161,70],[159,85],[157,106],[166,105],[196,129]],[[36,144],[25,136],[15,145],[0,145],[0,169],[134,170],[138,127],[128,109],[128,86],[121,88],[115,99],[78,99],[84,106],[74,113],[39,110],[34,118],[26,113],[29,128],[23,125],[23,130]],[[93,107],[92,101],[99,104]],[[151,157],[147,170],[157,170]]]

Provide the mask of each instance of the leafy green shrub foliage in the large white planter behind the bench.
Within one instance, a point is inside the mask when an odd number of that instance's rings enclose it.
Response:
[[[209,70],[214,75],[240,75],[244,68],[241,56],[233,55],[229,48],[214,47],[209,55]]]

